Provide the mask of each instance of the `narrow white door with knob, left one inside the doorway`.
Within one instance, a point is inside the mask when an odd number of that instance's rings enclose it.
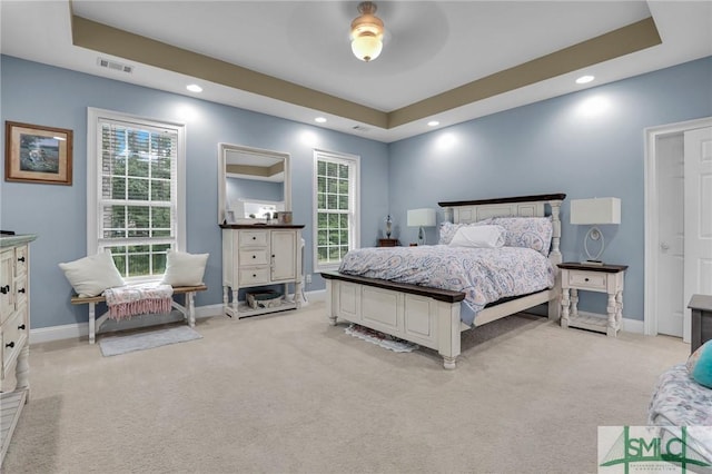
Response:
[[[684,307],[684,137],[657,138],[657,333],[682,337]]]

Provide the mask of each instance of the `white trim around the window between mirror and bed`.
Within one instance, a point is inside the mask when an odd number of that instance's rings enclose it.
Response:
[[[314,236],[312,251],[313,251],[313,261],[314,261],[314,271],[325,271],[325,270],[335,270],[338,268],[340,263],[334,264],[319,264],[319,253],[318,253],[318,184],[317,184],[317,175],[318,175],[318,162],[320,159],[326,159],[330,161],[339,161],[345,162],[349,167],[354,169],[354,179],[353,187],[354,196],[352,199],[352,204],[354,206],[353,209],[353,228],[348,229],[348,243],[349,250],[360,247],[360,156],[350,155],[350,154],[342,154],[337,151],[328,151],[322,149],[314,149],[314,170],[312,174],[313,179],[313,197],[312,197],[312,208],[313,208],[313,224],[312,224],[312,235]]]

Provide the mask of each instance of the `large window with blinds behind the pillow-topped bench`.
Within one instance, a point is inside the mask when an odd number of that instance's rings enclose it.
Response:
[[[185,245],[182,125],[89,109],[88,255],[110,251],[129,280],[158,279]]]

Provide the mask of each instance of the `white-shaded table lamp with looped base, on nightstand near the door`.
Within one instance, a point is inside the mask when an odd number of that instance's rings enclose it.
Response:
[[[571,224],[592,225],[583,240],[583,247],[586,251],[586,261],[582,264],[603,265],[600,259],[605,248],[603,234],[596,225],[621,224],[621,199],[619,198],[593,198],[593,199],[572,199],[571,201]],[[596,255],[591,255],[589,250],[589,240],[601,240],[601,247]]]

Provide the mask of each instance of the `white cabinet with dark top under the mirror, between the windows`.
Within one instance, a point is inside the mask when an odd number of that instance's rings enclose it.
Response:
[[[293,225],[221,225],[222,303],[235,317],[295,309],[301,303],[301,229]],[[278,306],[251,308],[238,300],[241,288],[283,285]],[[294,296],[289,296],[294,285]]]

